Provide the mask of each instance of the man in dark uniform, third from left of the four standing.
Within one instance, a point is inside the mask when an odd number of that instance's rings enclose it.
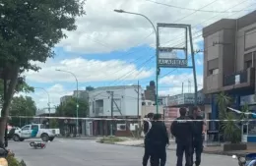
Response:
[[[176,155],[177,166],[182,166],[183,153],[185,152],[186,166],[192,166],[192,138],[193,138],[193,123],[186,116],[187,109],[180,108],[180,117],[173,121],[170,127],[171,134],[176,138]]]

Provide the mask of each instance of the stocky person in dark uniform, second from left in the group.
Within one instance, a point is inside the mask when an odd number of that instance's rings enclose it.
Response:
[[[151,148],[151,163],[152,166],[164,166],[169,138],[164,123],[160,121],[160,114],[155,114],[153,120],[152,128],[147,136]]]

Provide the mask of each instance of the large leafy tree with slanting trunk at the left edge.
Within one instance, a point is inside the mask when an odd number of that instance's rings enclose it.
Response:
[[[0,5],[0,69],[8,76],[5,102],[1,110],[0,146],[9,107],[18,78],[28,70],[38,71],[34,62],[54,56],[53,47],[75,30],[75,19],[85,14],[84,0],[13,0]]]

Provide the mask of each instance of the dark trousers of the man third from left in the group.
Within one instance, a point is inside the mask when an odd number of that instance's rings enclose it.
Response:
[[[183,154],[185,152],[186,166],[192,166],[192,144],[191,143],[177,143],[176,155],[177,166],[182,166]]]

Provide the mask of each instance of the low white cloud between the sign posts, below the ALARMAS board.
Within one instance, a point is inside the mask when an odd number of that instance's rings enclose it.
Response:
[[[194,77],[193,74],[180,74],[180,75],[170,75],[160,79],[160,86],[166,85],[169,88],[164,88],[165,90],[160,90],[161,95],[175,95],[182,92],[194,92]],[[203,76],[197,76],[197,88],[200,90],[203,88]]]

